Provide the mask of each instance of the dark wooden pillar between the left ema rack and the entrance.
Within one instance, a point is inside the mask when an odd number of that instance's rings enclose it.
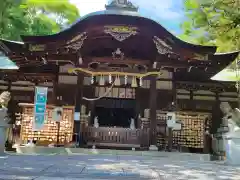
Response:
[[[75,96],[75,111],[76,112],[80,112],[81,113],[81,106],[82,106],[82,103],[83,103],[83,87],[84,87],[84,75],[82,73],[78,73],[78,76],[77,76],[77,87],[76,87],[76,96]],[[80,117],[81,117],[81,114],[80,114]],[[82,141],[82,131],[83,131],[83,128],[82,125],[81,125],[81,121],[79,123],[80,127],[79,127],[79,145],[83,144],[83,141]]]

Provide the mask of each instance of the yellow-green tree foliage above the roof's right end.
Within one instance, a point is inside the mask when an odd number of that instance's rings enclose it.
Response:
[[[217,45],[218,52],[240,49],[240,0],[186,0],[181,39]]]

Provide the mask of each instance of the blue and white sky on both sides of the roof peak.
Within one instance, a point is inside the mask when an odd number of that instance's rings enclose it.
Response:
[[[105,9],[108,0],[70,0],[84,16]],[[180,24],[184,20],[183,0],[131,0],[139,7],[139,13],[159,22],[163,27],[177,35],[181,33]]]

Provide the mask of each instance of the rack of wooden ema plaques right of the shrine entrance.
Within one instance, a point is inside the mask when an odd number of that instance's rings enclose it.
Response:
[[[209,123],[207,113],[177,112],[177,120],[182,123],[182,130],[173,131],[173,147],[204,148],[204,134]],[[208,118],[209,119],[209,118]],[[167,146],[166,112],[157,113],[157,145]]]

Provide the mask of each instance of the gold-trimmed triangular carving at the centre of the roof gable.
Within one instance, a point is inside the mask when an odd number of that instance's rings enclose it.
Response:
[[[122,42],[130,36],[136,35],[137,28],[128,26],[105,26],[104,32],[110,34],[117,41]]]

